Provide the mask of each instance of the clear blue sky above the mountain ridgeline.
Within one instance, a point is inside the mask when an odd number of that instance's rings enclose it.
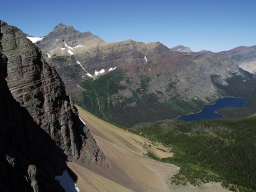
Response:
[[[0,19],[33,36],[62,22],[107,42],[213,52],[256,45],[256,0],[2,0]]]

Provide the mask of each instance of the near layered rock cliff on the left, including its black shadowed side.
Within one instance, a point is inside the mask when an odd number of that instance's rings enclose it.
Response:
[[[106,165],[55,69],[22,31],[2,21],[0,90],[1,189],[61,191],[54,176],[65,160]]]

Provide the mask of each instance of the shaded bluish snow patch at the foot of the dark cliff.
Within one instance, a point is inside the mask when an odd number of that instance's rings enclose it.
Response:
[[[55,176],[55,180],[59,181],[59,184],[65,189],[67,192],[79,192],[79,188],[68,174],[67,170],[64,170],[61,175]]]

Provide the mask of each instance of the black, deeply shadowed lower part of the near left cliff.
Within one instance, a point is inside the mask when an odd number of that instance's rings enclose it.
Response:
[[[11,95],[6,65],[0,41],[0,189],[64,191],[54,176],[62,173],[67,157]]]

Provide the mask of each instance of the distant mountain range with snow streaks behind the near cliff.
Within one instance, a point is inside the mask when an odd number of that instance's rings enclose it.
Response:
[[[255,46],[213,53],[160,42],[105,42],[62,23],[34,43],[77,104],[128,127],[198,111],[228,95],[216,83],[244,77],[237,65],[255,71]]]

